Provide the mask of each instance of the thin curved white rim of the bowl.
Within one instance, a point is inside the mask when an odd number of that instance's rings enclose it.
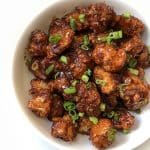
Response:
[[[40,137],[41,140],[46,141],[47,143],[49,143],[50,145],[52,145],[54,148],[58,148],[58,149],[64,149],[64,150],[70,150],[70,148],[61,145],[59,143],[53,142],[51,141],[48,137],[46,137],[35,125],[34,123],[29,119],[28,115],[26,114],[26,112],[22,109],[22,105],[19,102],[19,98],[17,96],[17,91],[15,89],[15,79],[14,79],[14,68],[15,68],[15,55],[16,55],[16,51],[19,47],[19,43],[21,41],[21,39],[23,38],[26,30],[28,30],[28,28],[31,26],[32,22],[34,22],[40,14],[43,14],[45,12],[48,11],[48,9],[50,7],[52,7],[53,5],[57,5],[57,3],[59,4],[60,0],[53,0],[47,3],[46,6],[41,7],[38,10],[38,13],[36,12],[36,14],[33,14],[28,20],[27,23],[24,25],[24,31],[22,33],[19,34],[18,39],[16,40],[16,46],[14,48],[14,52],[13,52],[13,56],[12,56],[12,67],[11,67],[11,74],[12,74],[12,79],[11,79],[11,84],[12,84],[12,94],[13,97],[15,98],[15,103],[16,106],[18,108],[19,113],[23,116],[23,119],[25,120],[25,122],[27,123],[27,125],[30,127],[30,130],[33,131],[38,137]],[[105,2],[106,0],[104,0]],[[127,5],[129,5],[129,0],[120,0],[120,3],[126,3]],[[132,5],[131,5],[132,6]],[[150,138],[150,136],[147,134],[147,136],[145,136],[143,139],[140,140],[138,145],[132,146],[131,149],[136,148],[138,146],[140,146],[142,143],[144,143],[145,141],[147,141]],[[72,150],[75,150],[74,148],[72,148]]]

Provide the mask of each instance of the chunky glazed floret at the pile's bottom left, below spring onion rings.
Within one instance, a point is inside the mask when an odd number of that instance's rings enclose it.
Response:
[[[72,123],[69,115],[63,116],[63,118],[54,118],[51,130],[52,136],[61,138],[64,141],[73,141],[77,132],[75,124]]]

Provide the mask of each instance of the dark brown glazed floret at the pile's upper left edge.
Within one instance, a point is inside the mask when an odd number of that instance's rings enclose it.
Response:
[[[27,51],[31,56],[45,56],[48,36],[41,30],[35,30],[31,33]]]

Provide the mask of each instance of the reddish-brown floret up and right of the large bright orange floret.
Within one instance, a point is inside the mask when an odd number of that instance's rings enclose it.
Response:
[[[138,55],[144,48],[144,43],[140,35],[135,35],[125,42],[122,42],[121,48],[132,56]]]

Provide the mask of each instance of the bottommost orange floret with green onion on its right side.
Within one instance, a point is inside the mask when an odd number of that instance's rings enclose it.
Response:
[[[105,149],[111,145],[115,139],[116,130],[109,119],[101,119],[98,124],[90,130],[90,140],[98,149]]]

